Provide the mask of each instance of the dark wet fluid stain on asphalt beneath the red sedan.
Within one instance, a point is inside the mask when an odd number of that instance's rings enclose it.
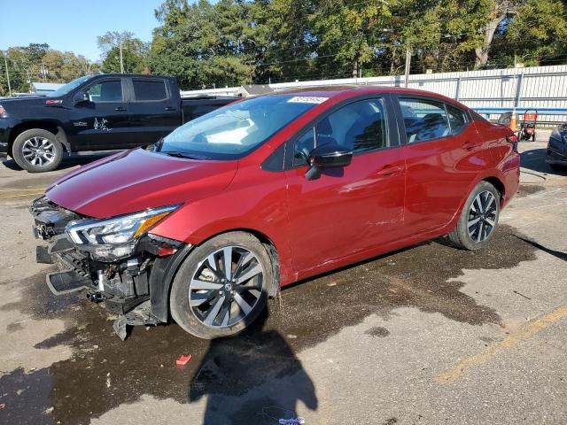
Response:
[[[55,297],[45,286],[44,275],[35,275],[22,282],[22,300],[2,308],[19,309],[37,320],[65,320],[64,332],[36,348],[67,344],[74,354],[28,374],[17,369],[1,376],[6,405],[2,414],[6,423],[88,423],[91,417],[151,394],[180,403],[206,396],[210,418],[230,413],[249,423],[273,423],[257,415],[272,400],[268,395],[246,398],[242,406],[218,401],[263,384],[281,390],[278,405],[291,409],[301,399],[315,409],[315,388],[297,353],[369,314],[387,321],[393,310],[412,306],[470,325],[500,323],[493,309],[461,292],[458,277],[462,269],[510,268],[534,260],[536,248],[515,234],[513,228],[501,226],[481,251],[460,251],[440,241],[423,243],[294,284],[270,302],[269,317],[265,314],[239,336],[213,342],[190,336],[176,325],[136,327],[122,342],[104,308],[74,295]],[[393,337],[386,328],[370,331],[373,336]],[[188,352],[193,356],[190,363],[177,369],[175,358]],[[285,379],[296,383],[289,398],[278,388]]]

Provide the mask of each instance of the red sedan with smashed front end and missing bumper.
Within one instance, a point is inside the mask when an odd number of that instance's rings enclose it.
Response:
[[[54,182],[31,207],[56,293],[127,325],[245,328],[280,287],[438,236],[485,245],[517,139],[447,97],[369,87],[230,104]]]

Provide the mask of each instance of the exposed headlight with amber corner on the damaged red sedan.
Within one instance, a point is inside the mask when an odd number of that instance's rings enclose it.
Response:
[[[178,206],[164,206],[106,220],[71,221],[66,226],[66,234],[77,248],[89,251],[95,259],[123,259],[134,253],[138,236],[144,235]]]

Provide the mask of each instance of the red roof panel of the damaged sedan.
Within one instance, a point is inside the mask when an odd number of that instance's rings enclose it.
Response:
[[[343,85],[343,86],[299,87],[293,89],[283,89],[283,90],[278,90],[267,96],[301,94],[301,96],[313,96],[313,97],[337,97],[337,96],[356,97],[359,95],[367,95],[367,94],[373,95],[373,94],[384,94],[384,93],[394,93],[394,94],[409,95],[409,96],[437,97],[439,100],[443,100],[446,102],[448,101],[453,104],[460,104],[459,102],[454,101],[454,99],[451,99],[450,97],[439,95],[439,93],[433,93],[431,91],[419,90],[419,89],[405,89],[401,87],[377,87],[377,86],[368,86],[361,84]]]

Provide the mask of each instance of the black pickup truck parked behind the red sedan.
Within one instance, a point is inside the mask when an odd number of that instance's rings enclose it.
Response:
[[[236,97],[180,96],[173,78],[100,74],[49,97],[0,99],[0,153],[31,173],[55,169],[66,153],[155,143],[183,123]]]

